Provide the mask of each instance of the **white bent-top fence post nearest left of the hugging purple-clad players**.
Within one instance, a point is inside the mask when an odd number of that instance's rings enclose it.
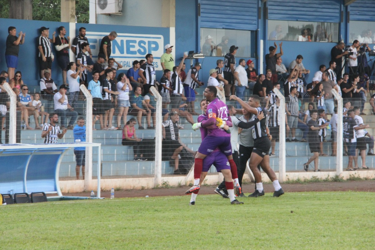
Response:
[[[156,100],[156,126],[155,126],[155,173],[154,187],[161,184],[162,179],[162,97],[156,88],[150,88]]]

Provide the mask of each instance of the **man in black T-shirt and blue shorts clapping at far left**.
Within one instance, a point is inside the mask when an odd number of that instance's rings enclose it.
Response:
[[[6,48],[5,48],[5,61],[8,67],[9,79],[14,77],[14,70],[18,66],[18,53],[20,52],[20,44],[25,42],[25,34],[20,31],[18,37],[16,36],[16,27],[8,27],[8,36],[6,38]]]

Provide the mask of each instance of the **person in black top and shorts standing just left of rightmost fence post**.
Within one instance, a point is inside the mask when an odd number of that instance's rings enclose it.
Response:
[[[314,172],[320,171],[319,170],[319,135],[318,130],[321,129],[321,127],[317,123],[318,118],[318,111],[313,109],[310,111],[311,114],[311,120],[308,122],[309,126],[309,133],[308,133],[308,142],[309,142],[309,148],[311,153],[314,155],[310,157],[310,159],[303,164],[303,168],[307,172],[309,170],[309,164],[314,161]]]

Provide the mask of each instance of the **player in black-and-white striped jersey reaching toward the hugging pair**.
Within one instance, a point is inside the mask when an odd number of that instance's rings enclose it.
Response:
[[[272,168],[270,168],[269,151],[271,147],[270,140],[272,139],[272,136],[269,134],[269,130],[267,127],[268,113],[265,108],[260,106],[260,97],[256,94],[252,95],[249,98],[249,104],[244,102],[237,96],[232,95],[229,97],[229,99],[236,100],[246,111],[254,114],[252,120],[255,120],[260,112],[263,112],[265,117],[265,119],[258,121],[254,126],[252,126],[254,148],[251,152],[249,167],[254,175],[257,190],[249,195],[249,197],[258,197],[264,195],[262,175],[260,173],[260,170],[258,169],[259,164],[272,181],[273,187],[275,189],[273,196],[279,197],[283,195],[284,190],[282,190],[275,172],[272,170]]]

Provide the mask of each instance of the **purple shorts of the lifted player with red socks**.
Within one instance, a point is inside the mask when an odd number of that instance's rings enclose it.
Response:
[[[198,152],[201,154],[211,154],[215,148],[219,148],[226,156],[232,154],[231,138],[229,136],[206,136],[201,145],[199,146]]]

